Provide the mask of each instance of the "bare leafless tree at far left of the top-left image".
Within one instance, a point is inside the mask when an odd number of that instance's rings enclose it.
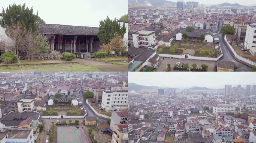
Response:
[[[18,64],[20,64],[20,54],[24,49],[25,43],[25,33],[26,31],[21,28],[18,24],[13,24],[12,26],[5,26],[5,33],[9,37],[1,37],[1,42],[4,43],[3,50],[10,51],[15,54]]]

